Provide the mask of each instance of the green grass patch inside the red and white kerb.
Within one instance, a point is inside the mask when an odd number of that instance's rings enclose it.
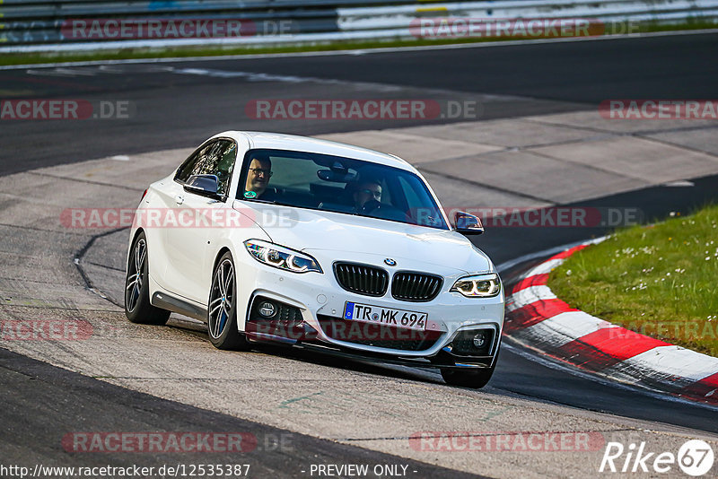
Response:
[[[618,231],[569,257],[548,285],[593,316],[718,356],[718,205]]]

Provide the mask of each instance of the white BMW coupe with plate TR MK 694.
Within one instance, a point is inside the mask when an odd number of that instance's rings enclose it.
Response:
[[[137,208],[125,312],[206,322],[212,344],[279,342],[491,378],[503,328],[495,266],[397,156],[293,135],[215,135]]]

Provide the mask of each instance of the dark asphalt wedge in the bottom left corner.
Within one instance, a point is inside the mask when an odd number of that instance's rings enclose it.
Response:
[[[293,477],[310,470],[310,464],[402,464],[409,474],[421,471],[421,476],[477,477],[459,471],[430,466],[403,457],[377,454],[374,451],[320,440],[303,434],[289,433],[257,422],[209,412],[143,393],[118,388],[98,379],[35,361],[0,349],[0,382],[3,384],[3,427],[6,433],[0,440],[4,451],[3,463],[8,459],[20,462],[20,457],[47,461],[59,459],[64,466],[118,467],[141,464],[156,469],[164,465],[204,464],[206,455],[195,453],[136,453],[115,454],[61,453],[48,445],[62,441],[58,431],[77,428],[78,418],[85,431],[203,431],[231,433],[252,431],[255,436],[246,453],[237,459],[236,452],[212,455],[213,464],[249,464],[250,477]],[[32,390],[32,400],[25,396]],[[109,399],[111,398],[111,400]],[[8,414],[9,413],[9,414]],[[51,418],[51,421],[48,421]],[[22,431],[17,434],[16,431]],[[52,440],[48,441],[48,438]],[[244,449],[244,448],[247,449]],[[311,451],[311,452],[309,452]],[[309,453],[308,453],[309,452]],[[203,457],[205,456],[205,457]],[[49,460],[48,460],[49,459]],[[480,477],[480,476],[478,476]]]

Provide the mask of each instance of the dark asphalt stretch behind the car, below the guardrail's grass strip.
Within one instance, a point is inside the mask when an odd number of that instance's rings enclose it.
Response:
[[[711,33],[402,53],[34,69],[30,74],[24,69],[4,70],[0,71],[0,98],[127,100],[136,105],[136,115],[129,120],[3,121],[0,174],[113,154],[194,146],[228,129],[319,135],[450,121],[258,121],[245,114],[250,100],[477,100],[483,106],[481,118],[490,119],[595,109],[601,100],[609,99],[710,99],[716,97],[716,47],[718,33]],[[174,71],[162,70],[168,67]],[[199,74],[198,69],[210,73]],[[178,70],[184,73],[178,74]],[[226,76],[232,72],[256,75]],[[296,80],[277,81],[267,75]],[[357,86],[357,82],[365,84]]]

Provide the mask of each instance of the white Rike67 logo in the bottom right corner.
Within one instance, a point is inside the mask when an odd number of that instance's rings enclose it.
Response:
[[[599,472],[658,473],[676,475],[678,466],[684,474],[705,475],[714,463],[711,445],[704,440],[688,440],[678,454],[646,450],[645,442],[631,443],[626,448],[620,442],[609,442],[600,461]]]

